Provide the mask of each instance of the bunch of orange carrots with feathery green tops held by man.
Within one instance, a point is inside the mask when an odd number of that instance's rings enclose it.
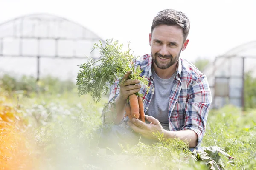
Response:
[[[129,49],[130,42],[128,42],[128,50],[122,51],[122,44],[118,44],[118,41],[113,41],[113,39],[106,40],[106,45],[103,46],[102,42],[99,41],[99,44],[95,43],[93,50],[99,49],[100,56],[97,61],[88,57],[88,61],[82,65],[79,65],[81,70],[77,75],[78,93],[79,96],[85,94],[91,94],[94,102],[99,102],[102,94],[107,94],[109,87],[115,83],[116,80],[119,80],[118,86],[123,82],[122,79],[128,71],[132,71],[128,79],[138,79],[142,84],[147,88],[148,81],[144,77],[140,76],[142,70],[139,65],[135,64],[136,59],[139,57],[131,54]],[[116,96],[116,94],[115,94]],[[141,104],[142,98],[139,92],[132,94],[127,99],[127,106],[131,110],[131,117],[144,118],[144,108]],[[140,106],[139,106],[140,101]],[[130,104],[131,105],[130,105]],[[109,102],[107,106],[114,104]],[[128,110],[126,109],[128,112]],[[141,116],[140,116],[140,113]],[[145,122],[145,120],[144,120]]]

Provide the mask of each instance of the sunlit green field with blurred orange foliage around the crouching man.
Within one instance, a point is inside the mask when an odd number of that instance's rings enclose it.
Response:
[[[225,170],[256,169],[256,110],[227,105],[210,111],[202,146],[223,149],[230,157],[218,152],[212,161],[175,139],[120,145],[121,153],[99,148],[97,130],[107,100],[79,97],[76,86],[55,79],[37,84],[29,78],[1,79],[0,170],[208,170],[215,164]]]

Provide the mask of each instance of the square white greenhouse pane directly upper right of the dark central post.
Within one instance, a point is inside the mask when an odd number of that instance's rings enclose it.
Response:
[[[56,41],[42,39],[39,41],[39,55],[40,56],[51,56],[56,55]]]

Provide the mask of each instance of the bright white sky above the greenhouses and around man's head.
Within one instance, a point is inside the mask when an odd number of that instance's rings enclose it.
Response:
[[[0,23],[49,13],[80,23],[103,39],[114,38],[137,55],[150,53],[153,17],[165,8],[185,12],[191,22],[189,44],[181,53],[194,61],[256,40],[255,0],[0,0]]]

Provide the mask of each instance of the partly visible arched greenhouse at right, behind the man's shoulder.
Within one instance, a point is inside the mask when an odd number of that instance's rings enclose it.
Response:
[[[212,108],[232,104],[244,107],[244,77],[256,76],[256,41],[248,42],[215,58],[202,71],[212,91]]]

